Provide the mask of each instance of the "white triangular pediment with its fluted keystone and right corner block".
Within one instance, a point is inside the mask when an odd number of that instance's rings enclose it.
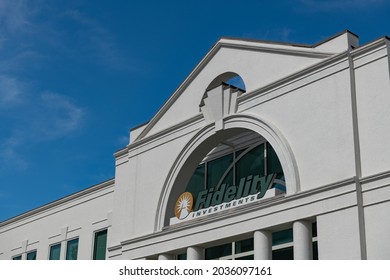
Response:
[[[243,92],[226,84],[219,86],[221,81],[215,77],[230,78],[235,73],[250,94],[355,46],[356,40],[349,32],[313,46],[221,38],[148,124],[134,132],[132,139],[136,142],[198,119],[201,100],[200,110],[206,121],[218,123],[233,114],[237,110],[236,99]]]

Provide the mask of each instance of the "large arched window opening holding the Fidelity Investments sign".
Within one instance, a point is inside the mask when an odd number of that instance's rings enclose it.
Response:
[[[283,169],[270,143],[257,133],[240,133],[220,142],[195,168],[185,196],[177,200],[172,223],[285,192]]]

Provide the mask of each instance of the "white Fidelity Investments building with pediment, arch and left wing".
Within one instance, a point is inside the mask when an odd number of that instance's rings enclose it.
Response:
[[[0,258],[390,259],[389,50],[221,38],[114,179],[3,221]]]

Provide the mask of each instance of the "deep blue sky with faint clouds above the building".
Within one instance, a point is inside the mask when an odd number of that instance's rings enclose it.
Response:
[[[0,221],[114,177],[221,36],[390,35],[390,1],[0,0]]]

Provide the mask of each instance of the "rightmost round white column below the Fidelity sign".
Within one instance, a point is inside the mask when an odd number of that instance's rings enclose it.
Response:
[[[313,243],[310,221],[295,221],[293,224],[294,260],[312,260]]]

